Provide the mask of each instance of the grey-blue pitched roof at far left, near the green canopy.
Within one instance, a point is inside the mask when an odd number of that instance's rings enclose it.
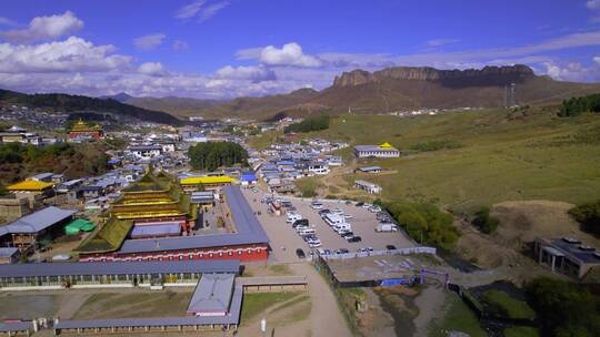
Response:
[[[13,223],[10,223],[4,228],[9,233],[37,233],[72,216],[77,211],[73,210],[61,210],[49,206],[26,215]]]

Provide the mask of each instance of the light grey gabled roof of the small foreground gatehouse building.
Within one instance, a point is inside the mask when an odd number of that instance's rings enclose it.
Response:
[[[233,274],[202,274],[188,306],[188,313],[229,312],[233,293]]]

